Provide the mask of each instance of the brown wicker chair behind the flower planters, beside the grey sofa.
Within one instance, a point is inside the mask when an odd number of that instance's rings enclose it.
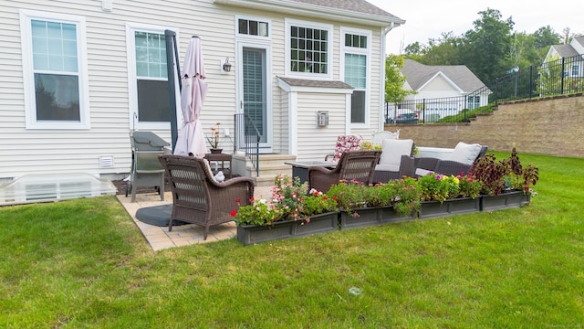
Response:
[[[356,179],[369,185],[380,156],[381,151],[344,152],[333,169],[320,166],[308,167],[308,189],[315,188],[326,193],[330,186],[338,184],[342,179]]]

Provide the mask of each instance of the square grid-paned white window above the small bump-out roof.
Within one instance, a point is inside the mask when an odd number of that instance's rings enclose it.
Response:
[[[332,26],[287,20],[287,74],[330,79]]]

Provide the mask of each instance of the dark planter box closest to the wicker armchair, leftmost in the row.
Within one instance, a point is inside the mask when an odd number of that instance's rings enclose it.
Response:
[[[237,240],[244,246],[272,241],[304,237],[312,234],[326,233],[339,228],[339,212],[329,212],[310,217],[310,222],[304,220],[285,220],[272,226],[242,225],[237,227]]]

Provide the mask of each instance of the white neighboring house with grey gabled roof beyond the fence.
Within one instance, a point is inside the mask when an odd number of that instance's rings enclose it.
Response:
[[[417,91],[407,96],[405,101],[423,103],[426,112],[433,112],[440,117],[485,106],[491,93],[485,83],[464,65],[431,66],[406,58],[401,74],[406,77],[403,89]],[[420,107],[418,105],[417,110],[422,110]]]

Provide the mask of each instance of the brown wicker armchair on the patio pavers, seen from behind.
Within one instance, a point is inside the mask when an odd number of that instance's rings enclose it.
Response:
[[[254,181],[235,177],[217,182],[205,160],[193,156],[164,154],[159,156],[172,191],[172,220],[204,227],[207,239],[209,227],[233,220],[231,212],[249,204],[254,196]]]

